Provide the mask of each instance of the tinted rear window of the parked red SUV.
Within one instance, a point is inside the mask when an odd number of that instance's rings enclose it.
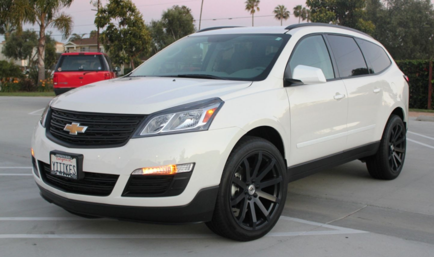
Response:
[[[56,71],[91,71],[105,70],[102,56],[95,55],[62,55]]]

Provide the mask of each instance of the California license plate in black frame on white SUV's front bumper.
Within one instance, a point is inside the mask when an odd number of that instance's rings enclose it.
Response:
[[[78,179],[79,156],[67,153],[50,152],[50,165],[52,175],[63,176],[71,179]]]

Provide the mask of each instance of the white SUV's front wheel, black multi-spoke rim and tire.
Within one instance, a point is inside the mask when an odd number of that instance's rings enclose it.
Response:
[[[286,199],[284,163],[271,142],[254,136],[241,138],[224,166],[212,220],[206,222],[208,228],[238,241],[268,233]]]

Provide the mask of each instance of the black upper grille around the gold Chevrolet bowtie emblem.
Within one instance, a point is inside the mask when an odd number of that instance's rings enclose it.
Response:
[[[66,146],[121,146],[132,136],[146,115],[79,112],[51,108],[49,133]],[[84,133],[69,134],[63,130],[72,122],[87,126]]]

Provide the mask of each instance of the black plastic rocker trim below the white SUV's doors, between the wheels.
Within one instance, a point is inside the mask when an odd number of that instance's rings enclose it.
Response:
[[[380,141],[364,144],[352,149],[337,152],[325,157],[288,167],[289,181],[295,181],[326,168],[373,155],[377,152]]]

